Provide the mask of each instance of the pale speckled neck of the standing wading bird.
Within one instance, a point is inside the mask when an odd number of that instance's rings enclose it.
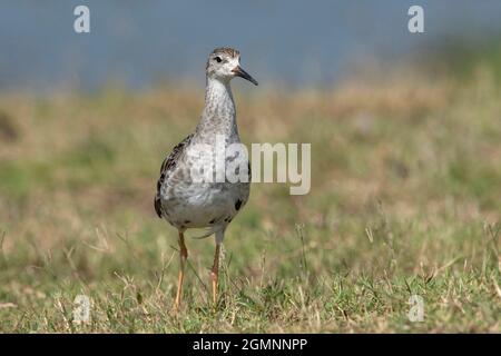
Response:
[[[207,78],[205,107],[197,132],[204,132],[208,139],[216,135],[224,135],[232,141],[238,139],[235,102],[229,82]]]

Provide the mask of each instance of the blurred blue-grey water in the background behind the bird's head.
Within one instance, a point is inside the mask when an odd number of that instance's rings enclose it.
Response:
[[[88,34],[73,31],[78,4],[90,8]],[[411,4],[424,7],[423,34],[407,31]],[[499,0],[3,0],[0,89],[203,82],[218,46],[238,48],[265,86],[325,85],[356,61],[391,63],[448,40],[497,36],[500,14]]]

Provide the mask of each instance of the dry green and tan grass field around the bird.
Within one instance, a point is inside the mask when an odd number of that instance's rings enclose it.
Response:
[[[214,240],[188,238],[177,316],[176,230],[153,197],[202,88],[1,96],[0,332],[501,332],[501,90],[488,67],[244,87],[244,141],[311,142],[312,190],[253,185],[217,309]],[[72,323],[77,295],[91,298],[89,324]]]

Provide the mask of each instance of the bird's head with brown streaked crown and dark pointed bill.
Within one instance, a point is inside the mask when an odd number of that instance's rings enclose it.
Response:
[[[229,82],[234,77],[244,78],[255,86],[257,81],[240,67],[240,53],[233,48],[216,48],[207,60],[207,78]]]

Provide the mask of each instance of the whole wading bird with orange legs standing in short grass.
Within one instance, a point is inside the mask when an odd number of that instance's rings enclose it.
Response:
[[[207,162],[204,159],[218,154],[215,152],[218,148],[216,137],[224,138],[224,147],[240,142],[229,81],[234,77],[242,77],[256,86],[257,81],[240,68],[239,60],[239,52],[227,47],[217,48],[209,55],[206,67],[205,107],[200,121],[195,132],[174,147],[160,168],[155,210],[160,218],[178,229],[179,236],[180,270],[175,312],[181,301],[185,265],[188,258],[184,233],[188,228],[208,228],[204,237],[215,234],[216,253],[210,278],[213,301],[216,305],[220,245],[229,222],[248,199],[250,179],[237,182],[230,182],[226,178],[223,181],[198,181],[193,177],[193,171],[206,167]],[[193,147],[206,147],[208,156],[190,155]],[[250,177],[248,158],[243,156],[232,157],[233,165],[246,167]],[[227,162],[228,158],[225,159]],[[225,169],[225,165],[224,167],[210,165],[214,176],[220,177],[218,170]]]

